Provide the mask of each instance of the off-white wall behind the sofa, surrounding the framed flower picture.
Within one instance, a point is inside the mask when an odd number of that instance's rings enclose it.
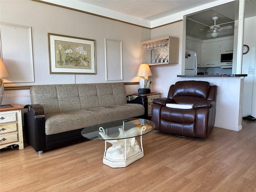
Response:
[[[32,27],[35,82],[22,85],[113,82],[106,81],[105,38],[122,40],[123,80],[115,82],[139,81],[136,73],[140,65],[140,42],[150,39],[149,29],[31,0],[1,0],[0,5],[0,22]],[[78,74],[75,77],[73,74],[50,74],[48,33],[96,40],[97,74]],[[139,86],[126,88],[127,94],[136,92],[138,88]],[[28,90],[6,91],[5,94],[15,94],[18,97],[5,97],[2,104],[25,105],[30,102],[30,99],[25,97],[26,94],[29,95]]]

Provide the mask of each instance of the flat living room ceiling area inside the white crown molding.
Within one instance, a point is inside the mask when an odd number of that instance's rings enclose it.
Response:
[[[216,0],[79,0],[94,6],[154,21]]]

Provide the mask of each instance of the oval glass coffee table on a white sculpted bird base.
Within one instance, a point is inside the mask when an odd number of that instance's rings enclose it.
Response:
[[[154,130],[155,124],[146,119],[129,118],[114,120],[82,130],[83,137],[92,140],[104,140],[103,163],[113,167],[126,167],[144,156],[142,135]],[[140,136],[140,144],[136,137]],[[107,143],[112,144],[107,149]]]

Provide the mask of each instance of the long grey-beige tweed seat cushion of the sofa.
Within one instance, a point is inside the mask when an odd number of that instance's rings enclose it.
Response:
[[[45,115],[46,135],[67,132],[100,124],[110,120],[132,118],[144,114],[140,104],[120,104],[98,108],[88,108]]]

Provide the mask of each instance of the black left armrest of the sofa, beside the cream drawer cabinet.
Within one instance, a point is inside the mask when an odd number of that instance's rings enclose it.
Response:
[[[24,128],[27,142],[36,152],[46,150],[44,108],[40,104],[26,105],[28,112],[24,113]],[[39,154],[39,153],[38,153]]]

